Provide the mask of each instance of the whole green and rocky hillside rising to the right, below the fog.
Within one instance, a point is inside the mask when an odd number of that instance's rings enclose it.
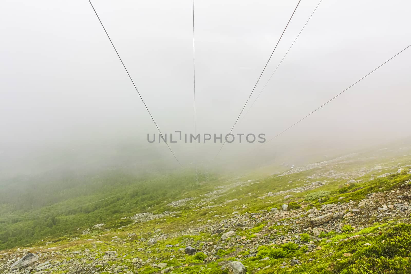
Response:
[[[411,273],[410,152],[220,178],[115,228],[0,251],[0,273]]]

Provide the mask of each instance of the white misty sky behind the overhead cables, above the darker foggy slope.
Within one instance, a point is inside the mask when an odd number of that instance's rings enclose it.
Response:
[[[198,132],[229,132],[297,2],[194,0]],[[318,2],[301,1],[245,112]],[[192,1],[93,5],[160,129],[193,132]],[[269,139],[411,44],[410,9],[407,0],[323,0],[234,133]],[[0,25],[1,150],[124,138],[150,146],[156,128],[87,0],[3,0]],[[411,48],[267,149],[409,135],[410,72]],[[171,147],[182,159],[192,150]]]

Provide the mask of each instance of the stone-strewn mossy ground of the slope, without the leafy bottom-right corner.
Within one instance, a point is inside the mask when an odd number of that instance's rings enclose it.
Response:
[[[410,166],[393,164],[394,160],[383,167],[356,166],[352,157],[275,175],[284,190],[266,192],[270,186],[263,180],[231,182],[167,204],[176,211],[125,217],[135,223],[117,230],[104,229],[100,223],[80,237],[0,251],[0,273],[243,274],[301,267],[324,246],[334,253],[329,243],[370,235],[368,227],[379,230],[386,223],[410,221]],[[374,181],[382,184],[386,177],[391,181],[372,188]],[[309,193],[328,197],[309,200]],[[262,246],[303,252],[273,260],[261,256]],[[339,260],[351,255],[343,253]]]

